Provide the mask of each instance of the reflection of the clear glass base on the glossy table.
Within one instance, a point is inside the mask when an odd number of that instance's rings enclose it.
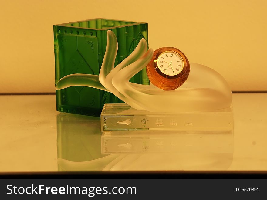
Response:
[[[233,153],[232,131],[107,131],[102,154],[114,153]]]

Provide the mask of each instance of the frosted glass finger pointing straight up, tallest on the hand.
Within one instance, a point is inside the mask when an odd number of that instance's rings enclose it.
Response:
[[[100,83],[105,88],[106,88],[105,79],[106,76],[110,73],[110,71],[114,68],[117,50],[118,50],[118,42],[116,36],[112,31],[108,30],[106,52],[99,72]]]

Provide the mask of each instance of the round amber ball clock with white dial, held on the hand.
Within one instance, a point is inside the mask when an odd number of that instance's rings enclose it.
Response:
[[[147,65],[150,82],[163,89],[175,90],[188,78],[190,64],[187,57],[174,47],[162,47],[154,51]]]

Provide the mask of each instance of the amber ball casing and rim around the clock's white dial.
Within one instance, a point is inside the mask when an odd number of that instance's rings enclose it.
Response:
[[[183,68],[177,75],[167,75],[158,69],[157,60],[166,51],[177,53],[183,60]],[[189,72],[190,64],[187,57],[179,49],[174,47],[162,47],[155,50],[151,61],[147,65],[147,76],[150,82],[163,90],[175,90],[180,87],[187,80]]]

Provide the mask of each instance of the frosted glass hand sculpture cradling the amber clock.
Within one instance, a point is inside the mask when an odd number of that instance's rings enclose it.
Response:
[[[56,90],[69,86],[89,86],[112,92],[138,110],[151,112],[191,112],[224,109],[232,102],[231,90],[225,79],[206,66],[191,63],[187,81],[176,90],[164,91],[150,84],[130,83],[132,76],[152,59],[146,40],[141,39],[134,52],[114,68],[118,43],[112,31],[107,31],[107,46],[99,76],[70,74],[56,84]],[[169,103],[165,103],[166,100]]]

